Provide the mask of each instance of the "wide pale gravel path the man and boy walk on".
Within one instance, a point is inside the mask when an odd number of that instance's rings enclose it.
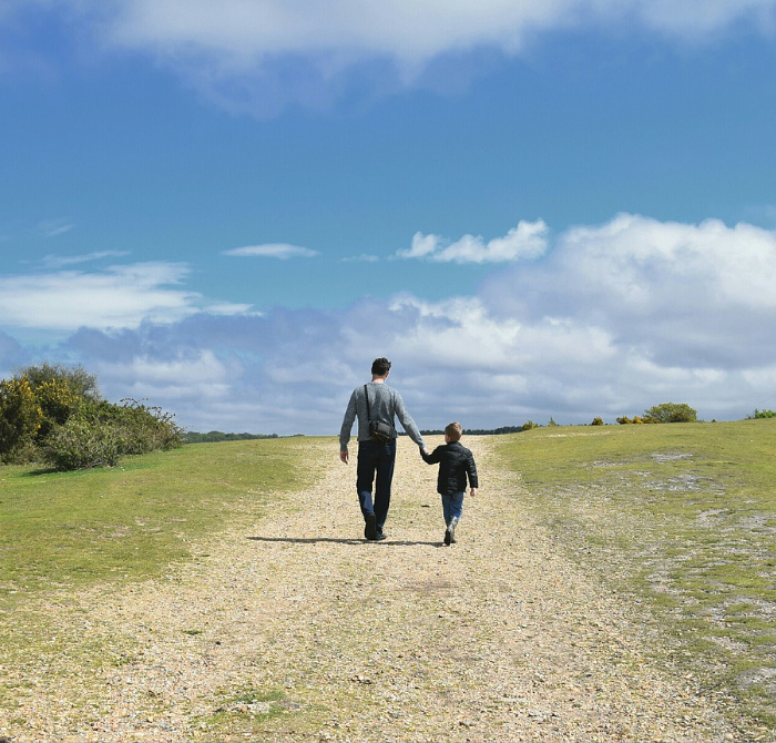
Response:
[[[482,487],[458,544],[407,439],[385,542],[360,538],[355,462],[310,439],[314,489],[163,579],[52,600],[51,651],[0,660],[18,684],[0,739],[734,740],[694,679],[645,660],[637,608],[521,513],[492,440],[464,442]]]

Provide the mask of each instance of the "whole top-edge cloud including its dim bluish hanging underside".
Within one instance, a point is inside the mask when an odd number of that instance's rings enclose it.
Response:
[[[478,49],[506,55],[555,30],[642,27],[703,42],[745,22],[773,30],[776,0],[27,0],[91,27],[96,49],[153,55],[207,99],[272,115],[324,106],[353,79],[396,90],[429,62]]]

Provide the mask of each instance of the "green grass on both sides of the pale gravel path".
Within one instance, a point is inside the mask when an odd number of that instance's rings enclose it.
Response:
[[[654,661],[702,675],[732,716],[776,731],[776,420],[493,440],[532,520],[668,639]],[[191,445],[71,474],[1,468],[0,655],[41,637],[45,620],[27,608],[47,592],[157,577],[203,557],[197,537],[272,507],[269,492],[305,487],[309,441]]]

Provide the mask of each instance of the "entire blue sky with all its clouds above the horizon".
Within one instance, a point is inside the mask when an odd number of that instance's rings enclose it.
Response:
[[[325,7],[325,11],[320,9]],[[193,430],[776,407],[776,0],[0,0],[0,374]]]

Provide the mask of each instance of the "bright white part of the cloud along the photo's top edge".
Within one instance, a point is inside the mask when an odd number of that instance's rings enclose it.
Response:
[[[81,0],[82,2],[82,0]],[[222,65],[248,67],[269,55],[326,55],[329,68],[369,55],[417,63],[448,51],[492,45],[519,50],[541,30],[636,19],[650,28],[697,35],[737,19],[763,22],[773,0],[129,0],[116,6],[115,43],[162,53],[194,47]]]

